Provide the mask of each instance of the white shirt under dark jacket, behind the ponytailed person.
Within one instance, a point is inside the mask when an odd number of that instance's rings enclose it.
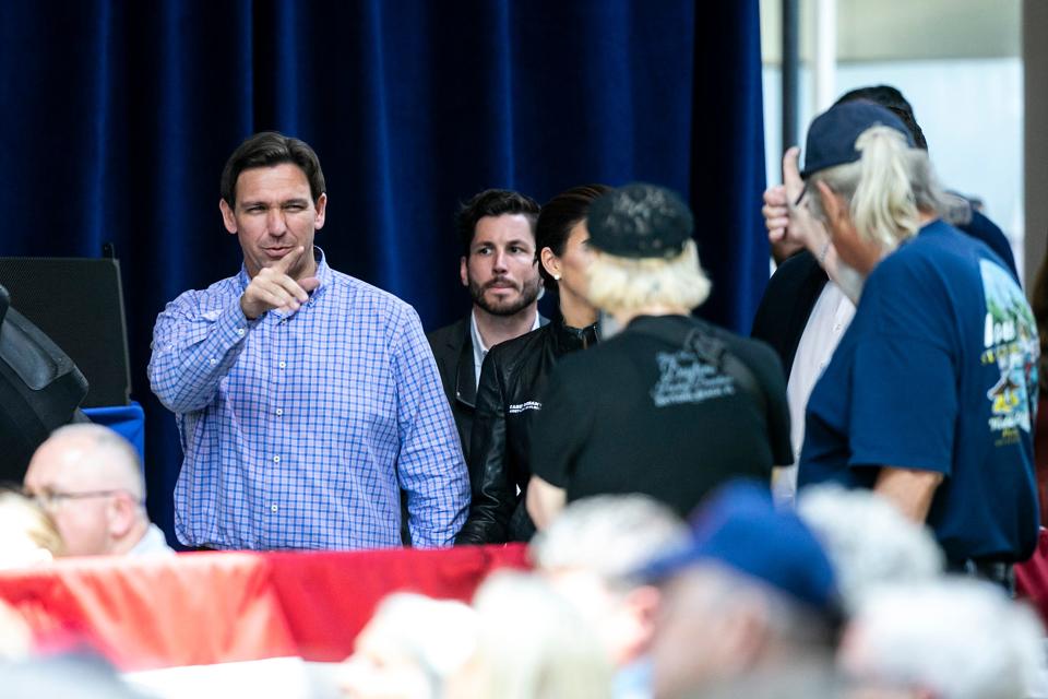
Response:
[[[805,332],[797,344],[794,366],[789,370],[786,383],[786,400],[789,403],[789,440],[794,447],[794,465],[779,470],[773,490],[777,502],[793,502],[797,494],[797,460],[805,443],[805,412],[808,398],[815,388],[815,381],[830,364],[833,351],[844,336],[851,319],[855,305],[844,295],[841,287],[826,282],[815,300]]]

